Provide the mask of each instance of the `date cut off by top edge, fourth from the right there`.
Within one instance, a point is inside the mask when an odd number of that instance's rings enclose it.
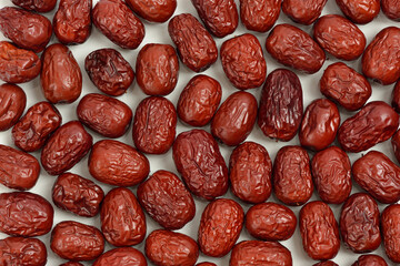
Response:
[[[240,20],[248,30],[267,32],[277,22],[282,0],[240,0]]]

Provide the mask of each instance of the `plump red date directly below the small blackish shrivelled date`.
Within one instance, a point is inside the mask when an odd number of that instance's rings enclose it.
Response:
[[[124,102],[98,93],[80,100],[77,115],[82,124],[111,139],[122,136],[132,121],[132,110]]]

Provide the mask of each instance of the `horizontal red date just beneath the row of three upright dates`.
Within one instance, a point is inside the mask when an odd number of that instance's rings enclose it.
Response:
[[[249,208],[246,214],[246,228],[261,241],[289,239],[297,226],[294,213],[284,205],[260,203]]]

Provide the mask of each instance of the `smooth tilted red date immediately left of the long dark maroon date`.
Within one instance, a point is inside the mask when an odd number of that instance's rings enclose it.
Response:
[[[257,100],[248,92],[234,92],[219,108],[211,122],[212,135],[237,146],[251,133],[257,119]]]

